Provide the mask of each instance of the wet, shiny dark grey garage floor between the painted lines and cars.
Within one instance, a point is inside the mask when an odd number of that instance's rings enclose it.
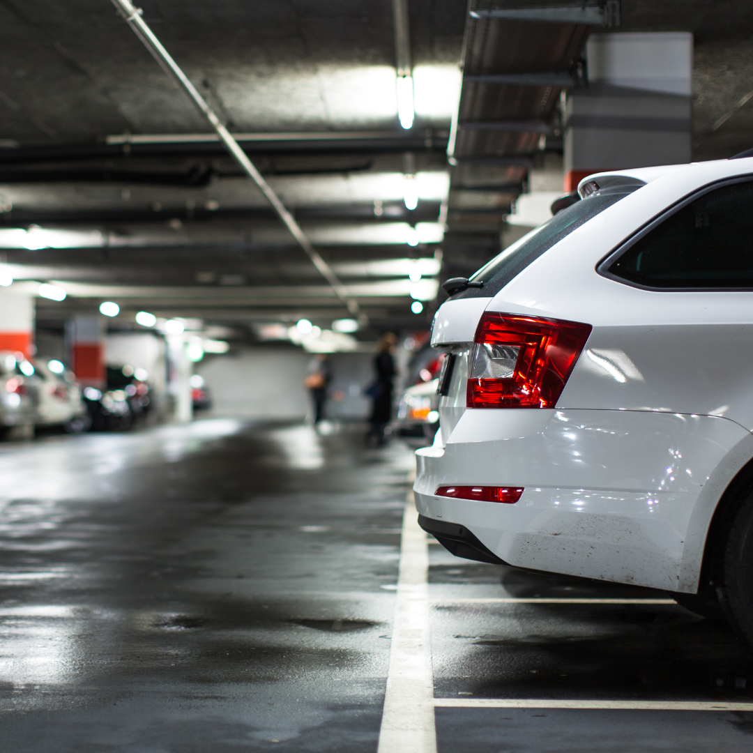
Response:
[[[0,749],[374,753],[412,465],[229,419],[0,446]],[[678,605],[457,601],[666,594],[429,551],[437,698],[753,701],[750,654]],[[748,712],[436,725],[440,753],[753,751]]]

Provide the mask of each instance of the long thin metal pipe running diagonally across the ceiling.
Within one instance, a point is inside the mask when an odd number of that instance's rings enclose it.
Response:
[[[306,237],[306,233],[303,233],[300,225],[295,221],[295,218],[288,211],[288,208],[272,190],[270,184],[264,180],[261,172],[258,171],[255,164],[248,159],[248,155],[245,154],[245,151],[240,148],[238,142],[236,142],[227,128],[224,127],[221,120],[217,117],[217,114],[215,114],[215,111],[209,107],[209,104],[203,96],[200,95],[197,88],[194,87],[194,84],[191,84],[191,81],[188,80],[187,76],[178,66],[178,63],[172,59],[169,52],[162,46],[160,40],[157,39],[154,32],[152,32],[148,24],[142,18],[141,9],[136,8],[130,0],[112,0],[112,3],[131,29],[136,33],[136,36],[142,41],[147,50],[149,50],[151,55],[154,56],[154,59],[157,60],[163,71],[166,72],[166,74],[169,75],[169,77],[172,78],[185,93],[187,93],[194,102],[194,105],[196,105],[206,119],[209,120],[210,125],[230,153],[230,156],[233,157],[233,159],[242,167],[243,172],[245,172],[249,178],[252,178],[255,184],[258,185],[261,193],[264,194],[264,197],[266,197],[267,201],[273,206],[273,209],[277,212],[277,215],[279,215],[279,218],[282,220],[283,224],[285,224],[285,227],[288,228],[291,235],[296,239],[298,245],[303,248],[303,251],[306,252],[306,255],[311,259],[312,264],[331,285],[335,294],[337,294],[337,297],[343,301],[353,316],[357,316],[359,321],[365,323],[366,315],[361,311],[361,307],[358,306],[358,301],[348,293],[346,286],[340,282],[340,279],[334,273],[329,264],[327,264],[319,252],[316,251],[316,248],[313,247],[312,243]]]

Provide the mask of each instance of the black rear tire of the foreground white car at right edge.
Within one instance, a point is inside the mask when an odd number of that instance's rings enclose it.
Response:
[[[753,647],[753,490],[730,516],[719,563],[719,601],[733,628]]]

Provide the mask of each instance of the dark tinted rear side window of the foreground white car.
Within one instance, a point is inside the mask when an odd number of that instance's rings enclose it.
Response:
[[[680,206],[604,266],[645,288],[753,288],[753,181]]]

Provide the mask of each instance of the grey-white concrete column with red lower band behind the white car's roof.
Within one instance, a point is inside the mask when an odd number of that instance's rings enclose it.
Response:
[[[691,161],[693,35],[592,34],[563,108],[565,191],[592,172]]]

